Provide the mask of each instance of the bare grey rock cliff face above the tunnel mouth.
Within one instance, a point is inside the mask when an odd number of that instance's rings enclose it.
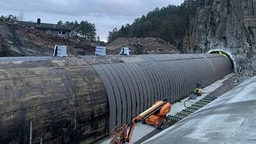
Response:
[[[256,74],[256,0],[200,0],[200,4],[189,21],[186,52],[225,50],[237,68]]]

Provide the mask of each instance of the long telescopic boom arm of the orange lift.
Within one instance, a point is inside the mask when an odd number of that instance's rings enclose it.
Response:
[[[133,134],[133,131],[134,131],[134,128],[136,126],[136,122],[149,117],[150,115],[152,115],[152,113],[154,113],[157,110],[159,110],[159,108],[162,108],[164,106],[164,104],[166,104],[165,101],[157,101],[156,103],[154,103],[153,106],[148,108],[148,110],[146,110],[143,113],[140,113],[140,115],[138,115],[138,117],[134,118],[132,120],[132,124],[131,124],[130,130],[129,130],[126,142],[130,143],[131,138],[132,138],[132,134]]]

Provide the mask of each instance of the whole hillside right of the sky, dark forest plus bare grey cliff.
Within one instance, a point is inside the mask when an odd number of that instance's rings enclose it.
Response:
[[[221,49],[256,75],[256,0],[184,0],[109,32],[109,40],[120,37],[161,38],[184,54]]]

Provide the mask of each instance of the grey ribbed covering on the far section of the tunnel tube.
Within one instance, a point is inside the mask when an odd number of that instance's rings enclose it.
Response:
[[[155,101],[175,103],[231,72],[227,57],[210,55],[138,55],[143,62],[99,64],[97,71],[108,95],[109,129],[132,118]]]

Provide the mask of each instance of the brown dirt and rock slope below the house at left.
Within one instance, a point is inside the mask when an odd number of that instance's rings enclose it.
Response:
[[[0,21],[0,57],[52,55],[54,45],[67,45],[68,55],[93,55],[95,52],[87,41],[61,38],[16,22]]]

